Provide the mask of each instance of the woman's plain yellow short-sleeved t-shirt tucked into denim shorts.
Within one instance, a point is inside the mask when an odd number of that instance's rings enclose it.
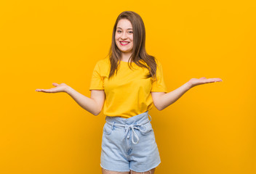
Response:
[[[109,57],[100,59],[92,72],[89,90],[104,90],[103,113],[107,116],[129,118],[153,107],[151,92],[167,92],[161,63],[156,59],[156,78],[144,78],[148,69],[132,62],[121,61],[119,70],[108,79],[111,70]]]

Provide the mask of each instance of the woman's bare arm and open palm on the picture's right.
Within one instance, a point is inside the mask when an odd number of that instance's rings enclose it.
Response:
[[[173,104],[177,99],[180,99],[186,91],[193,88],[194,86],[198,86],[205,83],[213,83],[223,81],[220,78],[191,78],[187,83],[180,88],[175,89],[169,93],[164,92],[151,92],[151,96],[153,99],[153,104],[156,109],[162,110],[169,105]]]

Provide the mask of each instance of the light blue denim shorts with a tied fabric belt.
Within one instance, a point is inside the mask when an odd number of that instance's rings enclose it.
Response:
[[[105,117],[100,166],[105,170],[141,173],[161,160],[148,111],[129,118]]]

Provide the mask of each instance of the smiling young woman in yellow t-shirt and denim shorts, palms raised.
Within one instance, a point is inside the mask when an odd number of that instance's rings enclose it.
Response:
[[[113,27],[108,57],[95,65],[90,98],[65,83],[52,83],[55,88],[36,91],[66,92],[93,115],[99,115],[103,109],[103,174],[154,173],[161,161],[148,110],[153,104],[162,110],[193,86],[217,81],[222,80],[191,78],[167,93],[161,63],[145,51],[143,20],[139,14],[125,11],[119,14]]]

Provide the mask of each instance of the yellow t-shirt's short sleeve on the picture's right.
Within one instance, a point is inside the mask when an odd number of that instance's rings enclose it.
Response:
[[[156,60],[156,80],[152,82],[151,92],[166,92],[167,86],[164,83],[164,75],[161,63]]]

